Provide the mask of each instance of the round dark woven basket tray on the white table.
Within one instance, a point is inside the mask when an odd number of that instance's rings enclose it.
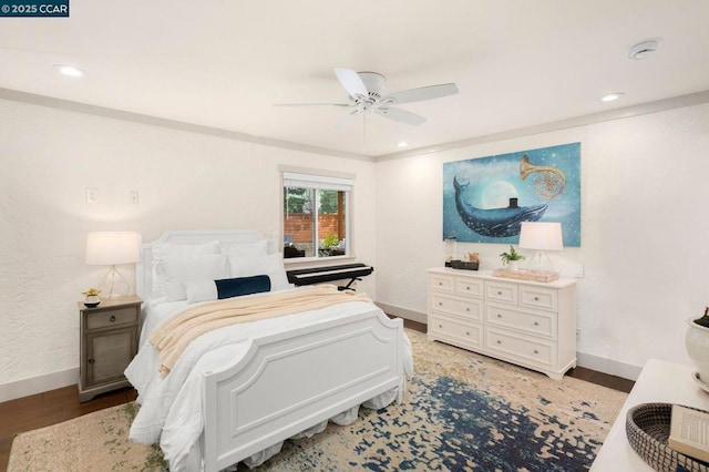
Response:
[[[697,410],[691,407],[686,408]],[[691,459],[667,445],[671,414],[671,403],[641,403],[631,408],[625,422],[630,445],[656,471],[709,472],[709,464]]]

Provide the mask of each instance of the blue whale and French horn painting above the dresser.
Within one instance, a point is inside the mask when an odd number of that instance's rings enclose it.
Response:
[[[523,222],[580,246],[580,143],[443,164],[443,239],[518,244]]]

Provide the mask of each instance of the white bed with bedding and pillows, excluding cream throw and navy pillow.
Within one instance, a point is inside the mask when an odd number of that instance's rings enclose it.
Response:
[[[160,441],[172,471],[258,465],[284,440],[310,435],[327,421],[354,421],[360,406],[402,400],[404,372],[412,371],[402,320],[357,298],[209,331],[185,347],[169,373],[158,372],[160,353],[148,339],[189,307],[311,288],[288,283],[279,243],[254,230],[182,230],[142,246],[141,347],[125,372],[141,408],[130,437]],[[214,301],[214,280],[264,275],[269,293]]]

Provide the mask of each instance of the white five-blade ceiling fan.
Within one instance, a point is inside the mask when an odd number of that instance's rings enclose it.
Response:
[[[359,114],[372,112],[400,123],[417,125],[425,122],[425,119],[392,105],[440,99],[441,96],[458,93],[458,86],[454,83],[444,83],[382,95],[387,79],[380,73],[354,72],[351,69],[335,68],[335,74],[349,94],[349,103],[278,103],[275,106],[342,106],[353,109],[336,127],[343,126]]]

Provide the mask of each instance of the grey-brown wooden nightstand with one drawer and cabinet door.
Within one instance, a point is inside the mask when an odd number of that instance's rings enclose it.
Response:
[[[102,300],[95,308],[79,302],[79,401],[130,386],[123,371],[137,353],[142,302],[135,295]]]

